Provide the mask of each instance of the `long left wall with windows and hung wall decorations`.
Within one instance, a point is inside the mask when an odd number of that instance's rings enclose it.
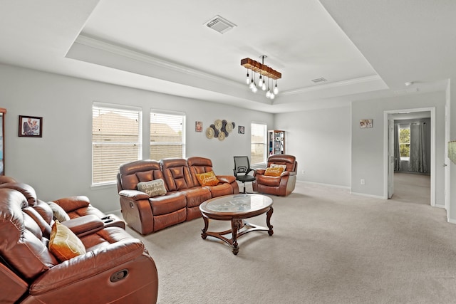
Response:
[[[91,125],[93,101],[134,105],[143,110],[143,158],[148,156],[151,108],[177,110],[187,115],[187,157],[212,159],[216,174],[232,175],[234,155],[250,154],[250,123],[274,128],[274,115],[239,110],[229,105],[125,88],[90,80],[0,65],[0,108],[5,117],[5,174],[36,189],[44,201],[86,195],[102,211],[120,209],[115,185],[91,187]],[[43,117],[43,137],[19,137],[19,115]],[[195,132],[214,120],[245,126],[223,142]]]

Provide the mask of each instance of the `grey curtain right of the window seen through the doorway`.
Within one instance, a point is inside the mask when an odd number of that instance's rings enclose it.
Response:
[[[427,172],[425,122],[410,125],[410,170]]]

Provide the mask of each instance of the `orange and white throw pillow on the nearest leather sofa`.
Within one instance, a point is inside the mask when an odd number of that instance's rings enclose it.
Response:
[[[49,250],[58,261],[66,261],[75,256],[86,254],[83,242],[67,226],[54,221],[49,239]]]

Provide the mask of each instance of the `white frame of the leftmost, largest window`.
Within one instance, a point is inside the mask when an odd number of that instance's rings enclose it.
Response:
[[[118,111],[118,112],[133,112],[135,114],[138,114],[138,141],[137,142],[97,142],[93,140],[93,122],[94,122],[94,111],[95,110],[107,110],[107,111]],[[116,184],[117,183],[117,177],[113,177],[113,179],[109,180],[103,180],[102,182],[94,182],[94,177],[95,177],[95,170],[94,170],[94,163],[95,163],[95,154],[94,154],[94,147],[95,145],[103,145],[103,146],[109,146],[109,145],[120,145],[120,146],[126,146],[126,145],[137,145],[138,146],[138,155],[136,156],[135,160],[139,160],[142,158],[142,108],[140,107],[135,107],[135,106],[130,106],[130,105],[120,105],[120,104],[113,104],[113,103],[102,103],[98,101],[94,101],[92,103],[92,138],[91,138],[91,161],[92,161],[92,172],[91,172],[91,186],[92,187],[103,187],[105,185],[111,185],[111,184]],[[133,160],[132,160],[133,161]],[[125,161],[120,161],[118,165],[123,164]]]

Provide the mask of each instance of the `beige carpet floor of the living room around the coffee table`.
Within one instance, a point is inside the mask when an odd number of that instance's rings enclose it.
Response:
[[[274,235],[242,236],[237,256],[201,238],[202,219],[148,236],[128,229],[157,264],[158,303],[456,303],[445,210],[306,183],[271,197]],[[211,221],[209,231],[228,227]]]

